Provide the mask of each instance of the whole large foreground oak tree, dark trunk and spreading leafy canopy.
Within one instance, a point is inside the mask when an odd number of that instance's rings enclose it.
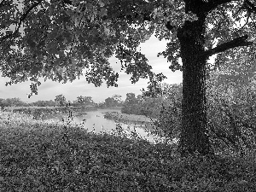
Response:
[[[172,71],[183,71],[179,151],[209,154],[207,60],[218,54],[218,66],[238,56],[253,61],[255,6],[250,0],[2,0],[0,69],[8,84],[32,80],[32,93],[40,77],[65,83],[83,73],[96,86],[103,80],[117,86],[108,62],[115,55],[132,83],[148,78],[154,92],[164,76],[151,72],[137,48],[152,35],[164,38],[160,55]]]

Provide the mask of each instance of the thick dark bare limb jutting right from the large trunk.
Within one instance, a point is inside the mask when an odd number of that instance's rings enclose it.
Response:
[[[244,35],[244,36],[241,36],[241,37],[238,37],[238,38],[234,38],[230,42],[226,42],[224,44],[219,44],[217,47],[215,47],[213,49],[208,49],[207,51],[202,53],[200,56],[209,57],[209,56],[224,52],[227,49],[233,49],[233,48],[240,47],[240,46],[252,45],[253,42],[248,42],[247,38],[248,38],[248,35]]]

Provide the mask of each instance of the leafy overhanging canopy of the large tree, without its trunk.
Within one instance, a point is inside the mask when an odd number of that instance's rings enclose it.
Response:
[[[103,79],[108,86],[117,86],[119,74],[113,72],[108,62],[108,58],[115,55],[122,69],[131,74],[132,83],[148,77],[152,82],[161,80],[164,76],[151,72],[147,58],[137,47],[153,34],[160,40],[165,38],[169,43],[160,55],[172,62],[173,71],[182,70],[177,62],[181,56],[177,30],[185,20],[197,19],[196,10],[195,13],[189,10],[191,2],[3,0],[0,3],[3,77],[11,78],[8,84],[30,79],[35,82],[31,86],[35,93],[40,77],[66,83],[83,73],[86,80],[96,86],[101,85]],[[225,50],[251,44],[246,40],[247,34],[254,39],[255,5],[248,0],[194,2],[209,13],[204,55],[224,51],[218,55],[215,67],[225,66],[223,63],[229,61],[230,56],[239,59],[237,52]],[[243,26],[239,26],[241,20],[244,20]],[[254,51],[253,46],[239,51],[247,57],[247,62],[254,61],[249,55]]]

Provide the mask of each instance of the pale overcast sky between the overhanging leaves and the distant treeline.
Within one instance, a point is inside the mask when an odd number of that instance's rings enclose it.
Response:
[[[164,73],[167,77],[165,80],[168,84],[182,83],[182,72],[177,71],[172,73],[169,69],[170,62],[167,62],[163,56],[157,57],[157,53],[166,49],[166,41],[159,41],[154,36],[150,38],[146,43],[141,44],[143,54],[148,58],[148,63],[153,67],[154,73]],[[110,63],[114,71],[120,71],[120,63],[115,58],[111,58]],[[118,62],[118,63],[116,63]],[[139,95],[142,93],[142,89],[147,88],[148,79],[140,79],[137,84],[131,84],[131,75],[127,75],[122,72],[119,73],[119,86],[107,87],[104,83],[101,87],[95,87],[94,84],[88,84],[84,77],[74,80],[73,83],[61,84],[47,80],[44,82],[42,79],[41,85],[38,87],[38,96],[32,96],[27,98],[30,93],[29,85],[31,82],[25,82],[20,84],[13,84],[5,86],[5,82],[9,79],[0,77],[0,98],[13,98],[19,97],[24,102],[36,102],[38,100],[54,100],[55,96],[63,94],[66,96],[67,101],[73,102],[77,96],[91,96],[94,102],[104,102],[109,96],[118,94],[125,100],[126,93],[135,93]]]

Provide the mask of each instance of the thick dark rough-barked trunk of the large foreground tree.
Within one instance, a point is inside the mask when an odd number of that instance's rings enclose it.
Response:
[[[207,137],[207,57],[199,56],[205,51],[205,20],[205,15],[195,21],[186,20],[177,32],[183,61],[183,119],[178,147],[182,156],[211,152]]]

